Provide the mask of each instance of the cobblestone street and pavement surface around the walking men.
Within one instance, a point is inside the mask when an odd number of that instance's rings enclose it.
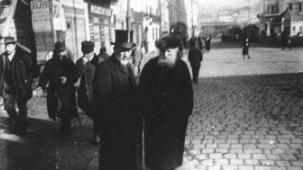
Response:
[[[303,169],[303,49],[254,47],[250,59],[241,52],[215,44],[204,54],[178,170]],[[60,121],[50,121],[45,102],[30,101],[24,138],[8,133],[0,112],[0,169],[97,169],[92,121],[81,113],[82,128],[74,120],[61,142]]]

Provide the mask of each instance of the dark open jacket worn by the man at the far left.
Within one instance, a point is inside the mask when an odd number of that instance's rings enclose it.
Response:
[[[5,52],[1,54],[0,57],[0,76],[3,76],[5,67],[4,67],[4,59],[7,58],[8,54]],[[14,53],[14,58],[12,60],[12,83],[14,85],[14,93],[18,97],[22,97],[24,99],[32,98],[32,69],[33,63],[32,58],[23,53],[20,49],[16,49]],[[5,62],[5,65],[7,63]],[[5,78],[2,78],[2,80]],[[0,94],[3,93],[3,85],[4,82],[1,82]]]

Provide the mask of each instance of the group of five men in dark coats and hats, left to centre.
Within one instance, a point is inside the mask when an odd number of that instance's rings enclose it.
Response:
[[[146,166],[151,170],[174,169],[182,165],[193,108],[188,67],[180,59],[181,42],[173,36],[158,40],[160,55],[146,63],[137,83],[129,62],[132,37],[133,31],[115,31],[114,53],[108,58],[96,56],[94,43],[84,41],[84,56],[76,64],[66,54],[64,43],[56,42],[33,94],[41,96],[47,91],[49,116],[54,121],[60,117],[61,139],[66,140],[70,120],[78,117],[77,90],[78,107],[94,120],[94,143],[100,145],[99,169],[142,169],[143,141]],[[32,97],[32,61],[11,50],[14,43],[13,38],[5,39],[4,63],[0,63],[5,66],[0,67],[4,85],[0,91],[14,129],[25,134],[26,103]],[[14,110],[15,100],[19,113]]]

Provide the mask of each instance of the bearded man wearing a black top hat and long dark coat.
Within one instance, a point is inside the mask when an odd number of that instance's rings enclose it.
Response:
[[[129,63],[133,31],[115,30],[114,53],[96,66],[93,94],[101,123],[99,169],[142,169],[142,121]]]

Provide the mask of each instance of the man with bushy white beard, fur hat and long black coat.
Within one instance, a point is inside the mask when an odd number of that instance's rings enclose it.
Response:
[[[144,120],[145,165],[151,170],[182,165],[188,116],[193,108],[193,89],[187,64],[180,59],[178,38],[158,42],[161,55],[142,69],[138,100]]]

